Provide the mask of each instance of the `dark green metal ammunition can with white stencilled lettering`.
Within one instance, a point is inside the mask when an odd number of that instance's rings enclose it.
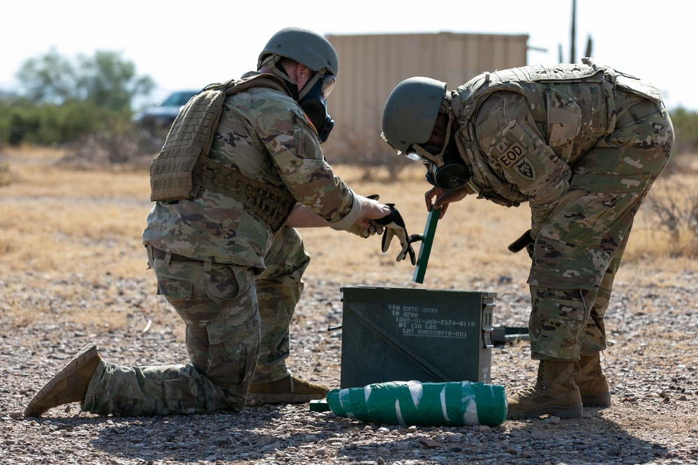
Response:
[[[343,287],[341,388],[490,382],[496,293]]]

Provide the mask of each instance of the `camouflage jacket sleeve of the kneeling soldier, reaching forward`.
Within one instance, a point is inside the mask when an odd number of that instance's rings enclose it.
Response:
[[[267,101],[257,112],[257,132],[281,182],[295,199],[330,223],[352,217],[354,193],[334,174],[320,140],[302,110],[291,99]]]

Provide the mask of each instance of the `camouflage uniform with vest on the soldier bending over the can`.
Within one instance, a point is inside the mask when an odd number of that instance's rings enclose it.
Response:
[[[585,60],[484,73],[451,108],[469,192],[530,205],[532,357],[602,351],[634,215],[674,143],[658,89]]]

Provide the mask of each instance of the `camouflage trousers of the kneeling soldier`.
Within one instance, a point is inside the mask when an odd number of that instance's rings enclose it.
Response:
[[[265,374],[288,371],[288,325],[309,262],[292,228],[279,231],[267,256],[267,271],[255,277],[251,267],[153,259],[149,254],[158,294],[186,323],[190,363],[125,367],[102,360],[82,409],[116,416],[242,410],[260,353]],[[263,310],[255,282],[263,289]]]

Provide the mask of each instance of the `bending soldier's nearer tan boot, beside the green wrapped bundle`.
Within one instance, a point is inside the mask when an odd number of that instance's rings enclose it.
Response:
[[[541,360],[534,386],[519,390],[507,399],[507,418],[523,420],[541,415],[581,418],[579,388],[574,384],[577,362]]]

